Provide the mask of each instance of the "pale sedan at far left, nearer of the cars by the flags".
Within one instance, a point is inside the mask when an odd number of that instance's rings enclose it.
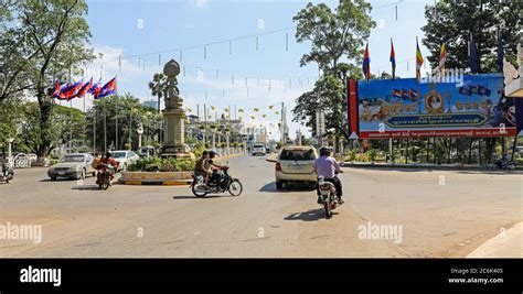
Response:
[[[96,175],[93,168],[93,155],[88,153],[75,153],[65,155],[57,164],[49,167],[47,175],[51,181],[57,177],[85,178],[87,174]]]

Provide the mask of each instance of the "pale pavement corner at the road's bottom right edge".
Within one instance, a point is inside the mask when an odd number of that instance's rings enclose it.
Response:
[[[489,239],[467,258],[523,258],[523,221]]]

